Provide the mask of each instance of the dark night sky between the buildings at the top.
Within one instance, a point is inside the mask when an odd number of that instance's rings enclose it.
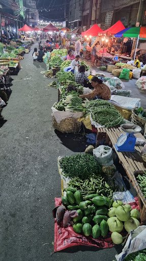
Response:
[[[65,20],[65,0],[36,0],[36,4],[39,11],[39,19]]]

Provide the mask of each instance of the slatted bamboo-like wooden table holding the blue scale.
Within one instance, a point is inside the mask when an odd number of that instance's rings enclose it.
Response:
[[[138,191],[138,188],[135,184],[135,176],[134,172],[137,170],[144,171],[146,167],[143,165],[143,160],[141,158],[141,150],[143,146],[135,146],[135,152],[130,153],[130,152],[118,152],[115,148],[115,144],[118,140],[118,138],[123,134],[123,131],[121,127],[117,128],[99,128],[98,133],[97,133],[97,146],[99,145],[100,140],[104,140],[105,143],[109,146],[112,146],[114,149],[115,153],[117,154],[120,163],[124,167],[127,176],[129,177],[130,182],[132,182],[133,187],[137,191],[138,194],[138,202],[140,206],[140,218],[141,222],[144,224],[146,223],[146,201],[143,200],[143,197]],[[144,137],[138,133],[135,134],[136,138],[144,139]]]

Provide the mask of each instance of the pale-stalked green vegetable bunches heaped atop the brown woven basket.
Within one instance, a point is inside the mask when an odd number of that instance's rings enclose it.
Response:
[[[78,93],[69,92],[64,95],[61,100],[54,106],[58,111],[65,112],[82,112],[82,99],[78,97]]]

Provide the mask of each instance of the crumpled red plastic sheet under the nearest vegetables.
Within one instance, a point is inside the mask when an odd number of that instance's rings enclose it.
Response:
[[[55,198],[55,207],[61,205],[61,198]],[[105,238],[99,237],[95,240],[92,236],[85,237],[82,234],[77,234],[73,231],[70,226],[68,228],[63,228],[57,225],[55,220],[54,226],[54,252],[64,250],[73,246],[90,246],[97,248],[111,248],[112,244],[110,234]]]

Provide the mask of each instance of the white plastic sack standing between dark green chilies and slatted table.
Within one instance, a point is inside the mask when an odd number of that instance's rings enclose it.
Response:
[[[113,164],[112,148],[109,146],[101,145],[93,149],[93,155],[102,166],[110,166]]]

